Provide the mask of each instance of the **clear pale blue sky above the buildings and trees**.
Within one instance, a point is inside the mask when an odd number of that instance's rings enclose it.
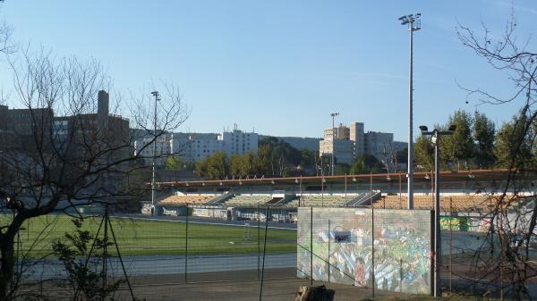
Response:
[[[537,29],[537,2],[514,4],[522,40]],[[417,134],[418,125],[445,122],[457,108],[473,112],[456,81],[512,91],[505,74],[461,45],[455,29],[457,21],[475,29],[484,21],[500,35],[510,7],[478,0],[6,0],[0,16],[21,44],[97,58],[124,95],[151,81],[175,82],[192,110],[182,131],[237,123],[261,134],[320,137],[329,113],[339,112],[337,122],[362,121],[365,130],[406,140],[408,31],[397,18],[422,13],[414,35]],[[535,51],[534,41],[530,46]],[[479,110],[501,123],[517,107]]]

